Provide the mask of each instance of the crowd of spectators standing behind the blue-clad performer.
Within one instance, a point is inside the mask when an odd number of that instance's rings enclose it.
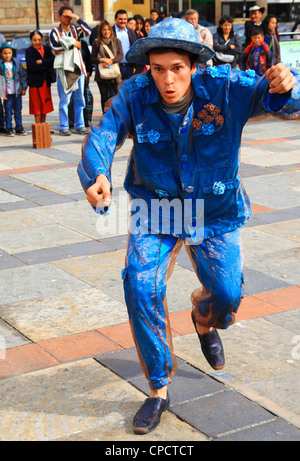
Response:
[[[230,16],[221,17],[214,34],[199,23],[197,10],[189,9],[176,16],[190,22],[198,33],[199,42],[215,51],[214,58],[206,65],[229,64],[233,69],[252,69],[263,75],[281,59],[277,18],[269,14],[262,19],[263,14],[264,8],[257,5],[249,9],[244,43],[234,31],[234,20]],[[70,128],[74,127],[76,133],[85,135],[93,112],[93,95],[89,87],[92,74],[105,113],[122,81],[148,68],[128,63],[126,53],[133,43],[147,37],[151,27],[164,19],[156,9],[151,10],[149,18],[139,14],[128,17],[127,11],[121,9],[115,13],[114,24],[102,20],[91,29],[69,6],[60,8],[58,18],[59,25],[50,33],[50,45],[44,44],[40,31],[30,34],[26,72],[17,64],[14,50],[0,34],[0,133],[8,136],[26,134],[22,126],[22,95],[28,87],[29,113],[34,115],[36,123],[45,122],[46,115],[54,110],[51,85],[56,83],[59,133],[69,136]],[[300,28],[299,20],[292,30],[297,27]],[[12,127],[13,116],[15,129]]]

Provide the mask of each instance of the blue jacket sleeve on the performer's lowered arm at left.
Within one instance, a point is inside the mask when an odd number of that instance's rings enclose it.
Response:
[[[100,174],[104,174],[112,184],[113,156],[130,133],[130,127],[128,94],[122,86],[112,101],[112,107],[102,117],[99,125],[92,126],[84,142],[78,174],[85,191]]]

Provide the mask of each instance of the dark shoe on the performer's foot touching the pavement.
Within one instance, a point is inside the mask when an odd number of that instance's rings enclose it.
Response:
[[[166,400],[160,397],[148,397],[133,420],[135,434],[148,434],[153,431],[159,423],[161,415],[170,406],[170,396],[167,393]]]

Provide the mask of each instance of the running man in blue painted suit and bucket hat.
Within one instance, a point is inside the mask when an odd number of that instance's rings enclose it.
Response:
[[[122,85],[86,138],[78,166],[88,201],[104,213],[111,201],[113,155],[133,137],[124,183],[132,209],[122,277],[150,386],[134,418],[140,434],[154,429],[170,404],[167,385],[176,359],[165,296],[175,257],[184,244],[201,282],[192,294],[192,321],[205,358],[221,369],[225,359],[217,330],[234,322],[243,296],[238,228],[251,215],[239,175],[242,129],[262,110],[299,116],[296,72],[278,64],[261,78],[227,65],[198,65],[213,54],[182,19],[151,28],[126,58],[150,64],[150,70]],[[174,204],[169,216],[162,212],[168,204]]]

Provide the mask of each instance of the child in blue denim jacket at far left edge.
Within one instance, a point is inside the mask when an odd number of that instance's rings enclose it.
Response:
[[[12,117],[14,114],[16,134],[26,135],[22,125],[22,96],[27,89],[27,72],[21,62],[13,58],[13,48],[8,43],[3,43],[0,48],[2,61],[0,75],[6,82],[6,100],[3,101],[5,109],[6,136],[14,136]]]

